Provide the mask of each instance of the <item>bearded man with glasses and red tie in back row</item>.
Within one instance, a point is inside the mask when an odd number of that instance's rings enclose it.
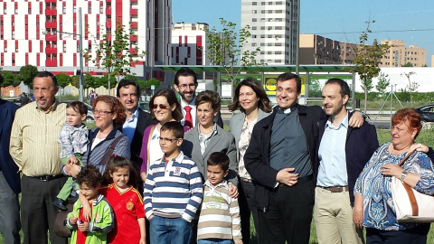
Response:
[[[176,72],[174,88],[181,96],[180,102],[184,115],[181,124],[190,128],[193,128],[198,124],[196,106],[194,105],[197,85],[197,76],[193,70],[189,68],[181,68]],[[223,127],[222,114],[220,111],[217,116],[214,117],[214,123],[219,127]]]

